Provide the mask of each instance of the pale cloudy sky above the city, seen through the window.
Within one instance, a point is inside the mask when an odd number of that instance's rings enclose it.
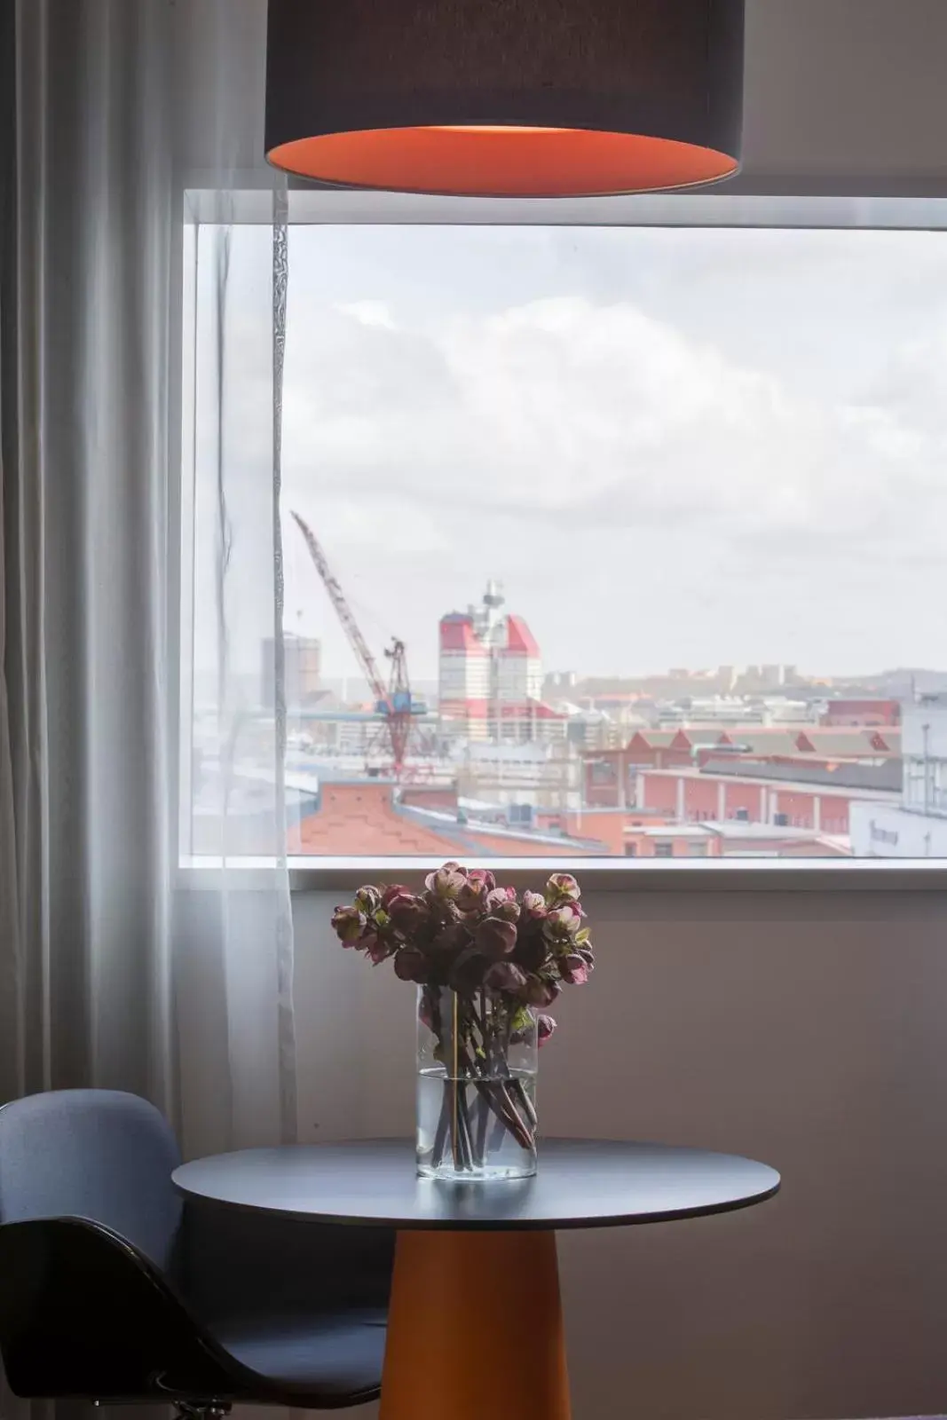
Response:
[[[214,240],[197,304],[226,261],[229,596],[250,648],[270,233]],[[199,315],[199,541],[210,334]],[[292,227],[283,470],[284,514],[417,680],[487,578],[547,670],[946,667],[947,233]],[[288,520],[283,540],[285,626],[356,674]],[[209,638],[206,565],[197,589]]]

